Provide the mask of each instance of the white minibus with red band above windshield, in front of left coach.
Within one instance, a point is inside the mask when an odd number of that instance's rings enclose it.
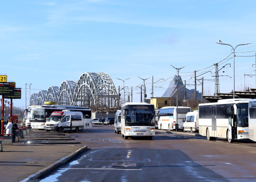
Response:
[[[71,123],[71,129],[74,132],[78,132],[84,128],[84,120],[82,112],[71,112],[69,110],[55,111],[52,112],[51,116],[45,122],[44,129],[46,131],[70,131]]]

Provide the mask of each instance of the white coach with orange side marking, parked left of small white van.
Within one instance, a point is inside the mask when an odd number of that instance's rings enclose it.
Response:
[[[159,109],[158,128],[168,129],[169,131],[173,129],[176,129],[176,131],[178,131],[178,129],[183,130],[183,120],[188,112],[191,112],[190,107],[178,106],[178,118],[176,118],[176,106],[162,107]]]

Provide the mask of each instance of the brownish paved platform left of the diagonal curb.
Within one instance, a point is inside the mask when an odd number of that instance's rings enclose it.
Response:
[[[31,134],[34,132],[32,131]],[[13,145],[2,145],[0,151],[1,182],[32,182],[37,181],[50,170],[66,163],[68,160],[87,149],[87,146],[44,145],[29,143],[29,135]]]

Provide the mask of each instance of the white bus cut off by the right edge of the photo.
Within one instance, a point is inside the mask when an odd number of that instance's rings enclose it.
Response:
[[[256,141],[256,99],[249,100],[249,138]]]

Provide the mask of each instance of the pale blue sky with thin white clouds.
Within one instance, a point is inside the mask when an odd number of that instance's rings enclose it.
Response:
[[[231,92],[233,50],[217,39],[234,48],[251,43],[235,49],[235,90],[256,88],[254,0],[0,2],[0,75],[22,88],[14,107],[24,108],[25,98],[29,103],[25,83],[37,94],[84,72],[107,73],[117,89],[123,81],[116,78],[130,78],[125,86],[133,87],[133,102],[140,100],[140,78],[148,78],[147,99],[152,96],[154,76],[154,97],[161,97],[177,75],[171,65],[185,66],[179,75],[189,89],[196,71],[199,81],[204,77],[204,93],[213,95],[218,63],[220,92]]]

